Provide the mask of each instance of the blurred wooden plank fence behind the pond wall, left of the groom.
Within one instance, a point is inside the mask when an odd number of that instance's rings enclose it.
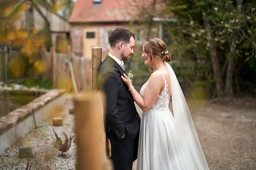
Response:
[[[74,55],[70,48],[67,54],[56,53],[54,48],[48,52],[41,49],[42,60],[46,64],[45,76],[53,83],[53,88],[64,88],[75,91],[74,84],[81,91],[92,90],[92,60]],[[72,82],[72,68],[75,83]]]

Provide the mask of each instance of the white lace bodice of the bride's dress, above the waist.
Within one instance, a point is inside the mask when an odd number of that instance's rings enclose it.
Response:
[[[158,71],[158,70],[157,70]],[[163,77],[164,77],[164,74],[159,71]],[[148,79],[149,80],[149,79]],[[145,92],[145,89],[148,85],[148,81],[145,82],[144,85],[142,85],[141,89],[140,89],[140,92],[139,94],[144,97],[144,92]],[[169,106],[169,100],[170,100],[170,96],[168,94],[168,84],[167,84],[167,81],[165,80],[165,77],[164,77],[164,90],[161,92],[161,94],[158,94],[158,97],[155,101],[155,103],[153,104],[153,106],[149,109],[149,110],[166,110]]]

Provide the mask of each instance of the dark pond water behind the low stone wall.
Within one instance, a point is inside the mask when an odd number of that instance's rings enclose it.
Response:
[[[32,90],[0,90],[0,117],[30,103],[44,93]]]

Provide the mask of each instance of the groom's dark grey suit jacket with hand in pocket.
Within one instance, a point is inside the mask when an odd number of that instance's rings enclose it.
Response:
[[[101,63],[98,74],[98,87],[106,95],[105,132],[121,138],[124,134],[134,139],[139,133],[140,117],[127,86],[120,78],[125,73],[117,62],[107,56]]]

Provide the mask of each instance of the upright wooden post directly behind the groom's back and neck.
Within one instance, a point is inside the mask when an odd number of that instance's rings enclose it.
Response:
[[[92,91],[99,91],[97,85],[98,73],[101,65],[102,48],[92,48]]]

